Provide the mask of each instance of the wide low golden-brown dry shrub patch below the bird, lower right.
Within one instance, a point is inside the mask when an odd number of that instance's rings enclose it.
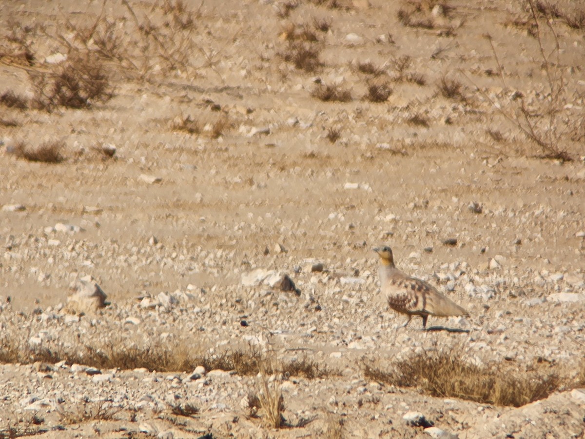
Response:
[[[546,398],[567,384],[556,373],[514,371],[502,363],[477,365],[463,349],[423,351],[388,371],[365,365],[364,375],[393,386],[418,387],[435,397],[514,407]]]

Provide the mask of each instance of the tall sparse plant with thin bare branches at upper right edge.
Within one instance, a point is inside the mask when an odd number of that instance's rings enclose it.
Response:
[[[582,96],[575,91],[576,88],[569,87],[571,78],[567,78],[566,66],[560,61],[559,36],[552,12],[539,9],[534,0],[526,0],[526,5],[529,21],[534,27],[538,67],[543,76],[541,90],[521,91],[508,86],[494,40],[489,34],[485,37],[498,66],[502,94],[491,97],[469,76],[466,77],[508,124],[540,150],[540,157],[570,161],[574,150],[580,148],[580,136],[575,133],[585,122],[585,115],[577,109]]]

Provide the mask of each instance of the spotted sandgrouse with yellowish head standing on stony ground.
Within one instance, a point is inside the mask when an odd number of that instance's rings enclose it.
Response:
[[[432,285],[398,270],[394,265],[390,247],[375,248],[374,251],[380,255],[380,287],[381,292],[386,295],[388,306],[408,316],[408,320],[401,327],[408,325],[413,315],[422,317],[423,328],[426,328],[426,319],[429,315],[436,317],[469,315]]]

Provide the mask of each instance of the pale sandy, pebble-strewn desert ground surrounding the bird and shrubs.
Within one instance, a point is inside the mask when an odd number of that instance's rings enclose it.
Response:
[[[129,9],[107,2],[104,16],[122,37],[122,53],[149,67],[107,60],[114,96],[88,109],[47,112],[0,104],[2,120],[18,125],[0,126],[0,205],[5,207],[0,291],[11,297],[1,312],[2,330],[25,339],[43,330],[71,339],[77,333],[104,337],[115,333],[112,328],[129,331],[128,337],[159,339],[165,332],[184,338],[205,327],[205,347],[250,340],[266,347],[261,335],[276,333],[269,344],[282,355],[311,349],[324,365],[343,371],[288,384],[285,417],[315,420],[281,431],[245,420],[240,400],[254,377],[217,375],[209,387],[191,384],[190,371],[177,383],[168,374],[116,371],[104,384],[60,365],[53,366],[47,383],[33,366],[4,365],[0,380],[7,389],[12,386],[12,397],[2,402],[1,423],[27,413],[23,409],[32,402],[23,401],[26,394],[39,399],[64,394],[75,404],[97,395],[99,386],[114,399],[116,391],[135,389],[126,390],[135,403],[150,392],[160,395],[153,404],[162,407],[174,383],[182,398],[201,407],[197,419],[182,427],[154,409],[140,411],[149,406],[139,410],[139,421],[162,424],[145,427],[149,433],[121,416],[45,435],[198,437],[210,431],[213,437],[334,437],[328,426],[340,416],[347,437],[425,435],[402,419],[415,410],[460,437],[583,437],[585,403],[577,390],[519,409],[494,407],[369,383],[359,366],[362,358],[391,362],[416,347],[450,343],[469,345],[484,362],[511,357],[518,368],[539,356],[576,368],[582,364],[585,143],[583,126],[572,121],[583,112],[583,29],[553,20],[566,80],[563,102],[569,104],[562,106],[569,125],[559,122],[567,135],[558,148],[573,158],[563,162],[543,159],[548,151],[526,140],[490,102],[512,111],[509,97],[515,90],[536,107],[546,101],[538,40],[529,35],[529,23],[518,24],[529,19],[521,6],[453,1],[445,14],[425,6],[420,15],[432,19],[434,28],[424,29],[398,22],[398,9],[405,5],[400,2],[342,2],[340,8],[295,4],[283,17],[281,2],[206,2],[200,8],[185,2],[198,13],[190,31],[170,26],[174,33],[167,49],[190,42],[179,50],[186,60],[170,69],[161,49],[151,47],[146,58],[136,54],[142,50],[135,44],[140,35]],[[559,5],[571,11],[584,7]],[[46,35],[63,35],[72,46],[80,43],[64,23],[88,26],[102,11],[99,2],[70,1],[9,2],[2,8],[6,35],[13,23],[43,25]],[[153,23],[170,16],[150,3],[133,8],[139,20],[146,11]],[[314,19],[329,20],[331,29],[315,31],[319,41],[311,44],[322,50],[322,66],[306,72],[282,54],[288,50],[289,23],[312,28]],[[493,73],[498,63],[486,33],[493,37],[505,84]],[[20,46],[2,40],[0,93],[32,96],[27,71],[52,68],[43,63],[46,57],[68,53],[63,40],[46,35],[36,29],[26,37],[36,59],[27,66],[7,55]],[[550,39],[543,41],[548,53]],[[91,44],[90,49],[96,50]],[[422,75],[424,85],[400,78],[401,56],[411,57],[406,71]],[[358,68],[368,60],[383,71],[376,78]],[[460,81],[463,97],[441,94],[444,77]],[[362,98],[376,81],[387,81],[393,90],[386,102]],[[319,82],[349,90],[352,100],[312,97]],[[188,115],[202,126],[224,121],[221,135],[173,128]],[[413,116],[425,122],[417,124]],[[340,134],[335,143],[327,138],[332,129]],[[65,145],[59,164],[11,153],[18,142],[53,140]],[[115,146],[114,157],[96,152],[104,145]],[[159,180],[151,183],[149,177]],[[470,210],[472,203],[481,211]],[[18,204],[23,210],[12,211]],[[62,232],[57,224],[80,229]],[[456,245],[443,245],[448,238],[456,238]],[[393,246],[405,272],[447,290],[470,311],[469,319],[448,321],[470,334],[424,334],[419,321],[395,329],[401,317],[377,297],[371,248],[380,243]],[[325,271],[307,270],[314,262],[323,263]],[[242,282],[254,269],[288,273],[301,296]],[[70,283],[85,275],[97,280],[112,305],[95,321],[84,316],[66,322],[60,310]],[[166,311],[164,306],[149,311],[135,300],[161,291],[197,294]],[[574,296],[555,296],[559,293]],[[43,313],[56,317],[39,318]],[[125,324],[128,316],[139,318],[137,328]],[[242,316],[249,327],[240,326]],[[59,342],[56,335],[47,340],[43,343]],[[68,380],[85,390],[70,395]],[[47,425],[59,425],[54,404],[43,410]]]

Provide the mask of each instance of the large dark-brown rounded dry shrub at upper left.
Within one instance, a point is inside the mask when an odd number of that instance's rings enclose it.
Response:
[[[49,73],[30,70],[29,76],[35,93],[33,105],[39,109],[90,108],[94,102],[113,97],[104,64],[89,53],[70,57]]]

